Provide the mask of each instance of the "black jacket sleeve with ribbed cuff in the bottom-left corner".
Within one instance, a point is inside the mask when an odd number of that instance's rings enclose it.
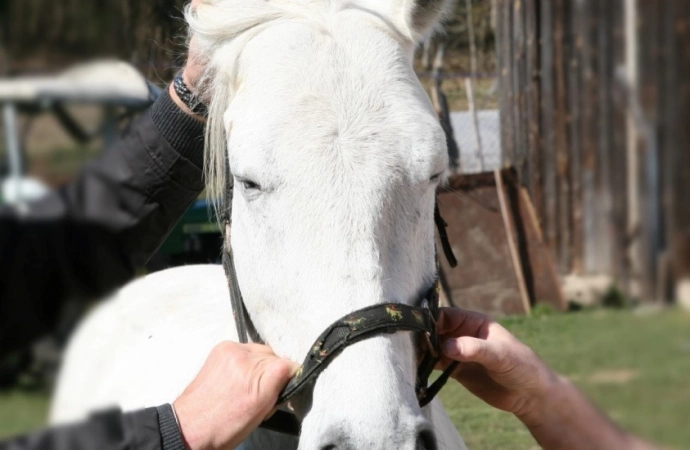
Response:
[[[170,405],[122,414],[105,411],[88,421],[0,442],[0,450],[184,450]]]

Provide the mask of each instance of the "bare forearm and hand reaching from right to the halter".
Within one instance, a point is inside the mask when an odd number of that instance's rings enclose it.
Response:
[[[513,413],[546,449],[652,449],[596,408],[568,380],[489,317],[443,308],[443,366],[461,364],[453,378],[491,406]]]

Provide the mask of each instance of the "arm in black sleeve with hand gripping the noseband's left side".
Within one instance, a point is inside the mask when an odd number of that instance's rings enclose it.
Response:
[[[235,448],[270,416],[297,367],[266,346],[224,342],[174,402],[174,413],[170,405],[126,414],[111,410],[0,442],[0,450]]]

